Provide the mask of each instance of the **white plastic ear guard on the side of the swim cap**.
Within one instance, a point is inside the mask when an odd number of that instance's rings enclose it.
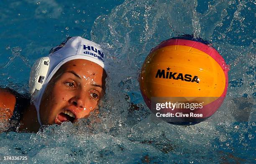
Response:
[[[38,91],[42,88],[46,75],[49,70],[50,58],[43,57],[35,61],[31,68],[29,78],[29,92],[34,97]]]

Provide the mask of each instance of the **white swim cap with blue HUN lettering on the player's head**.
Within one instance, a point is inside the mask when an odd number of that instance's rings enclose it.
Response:
[[[46,86],[63,64],[74,59],[92,61],[105,69],[105,55],[100,46],[80,36],[67,38],[59,46],[52,48],[49,56],[39,58],[31,68],[29,91],[40,125],[42,123],[39,108]]]

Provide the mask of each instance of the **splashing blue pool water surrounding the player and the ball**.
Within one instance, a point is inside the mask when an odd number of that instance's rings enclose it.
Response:
[[[0,87],[28,93],[33,62],[67,36],[100,43],[109,65],[96,122],[90,117],[37,134],[2,133],[1,162],[255,163],[255,5],[250,0],[1,0]],[[175,126],[151,115],[138,74],[151,48],[185,33],[210,41],[220,52],[230,65],[229,86],[210,119]],[[7,155],[28,160],[4,161]]]

